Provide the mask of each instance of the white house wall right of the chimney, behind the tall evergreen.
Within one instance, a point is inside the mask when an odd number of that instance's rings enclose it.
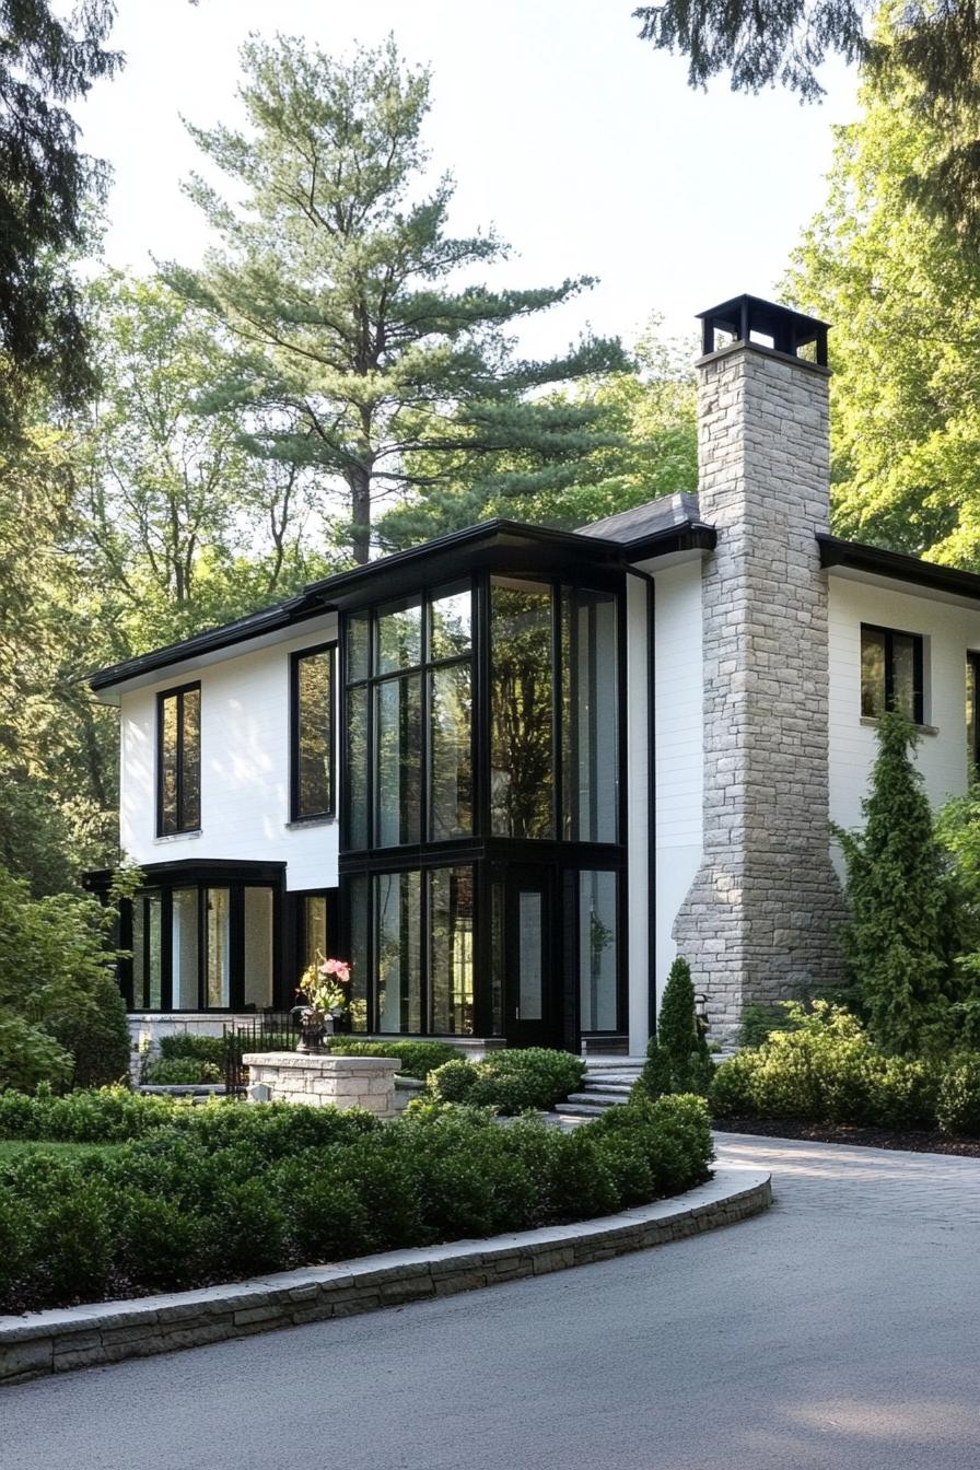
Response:
[[[861,623],[924,638],[924,720],[936,734],[921,736],[917,763],[934,804],[967,786],[965,659],[980,650],[980,609],[830,575],[830,817],[845,828],[861,825],[876,756],[874,726],[861,722]]]

